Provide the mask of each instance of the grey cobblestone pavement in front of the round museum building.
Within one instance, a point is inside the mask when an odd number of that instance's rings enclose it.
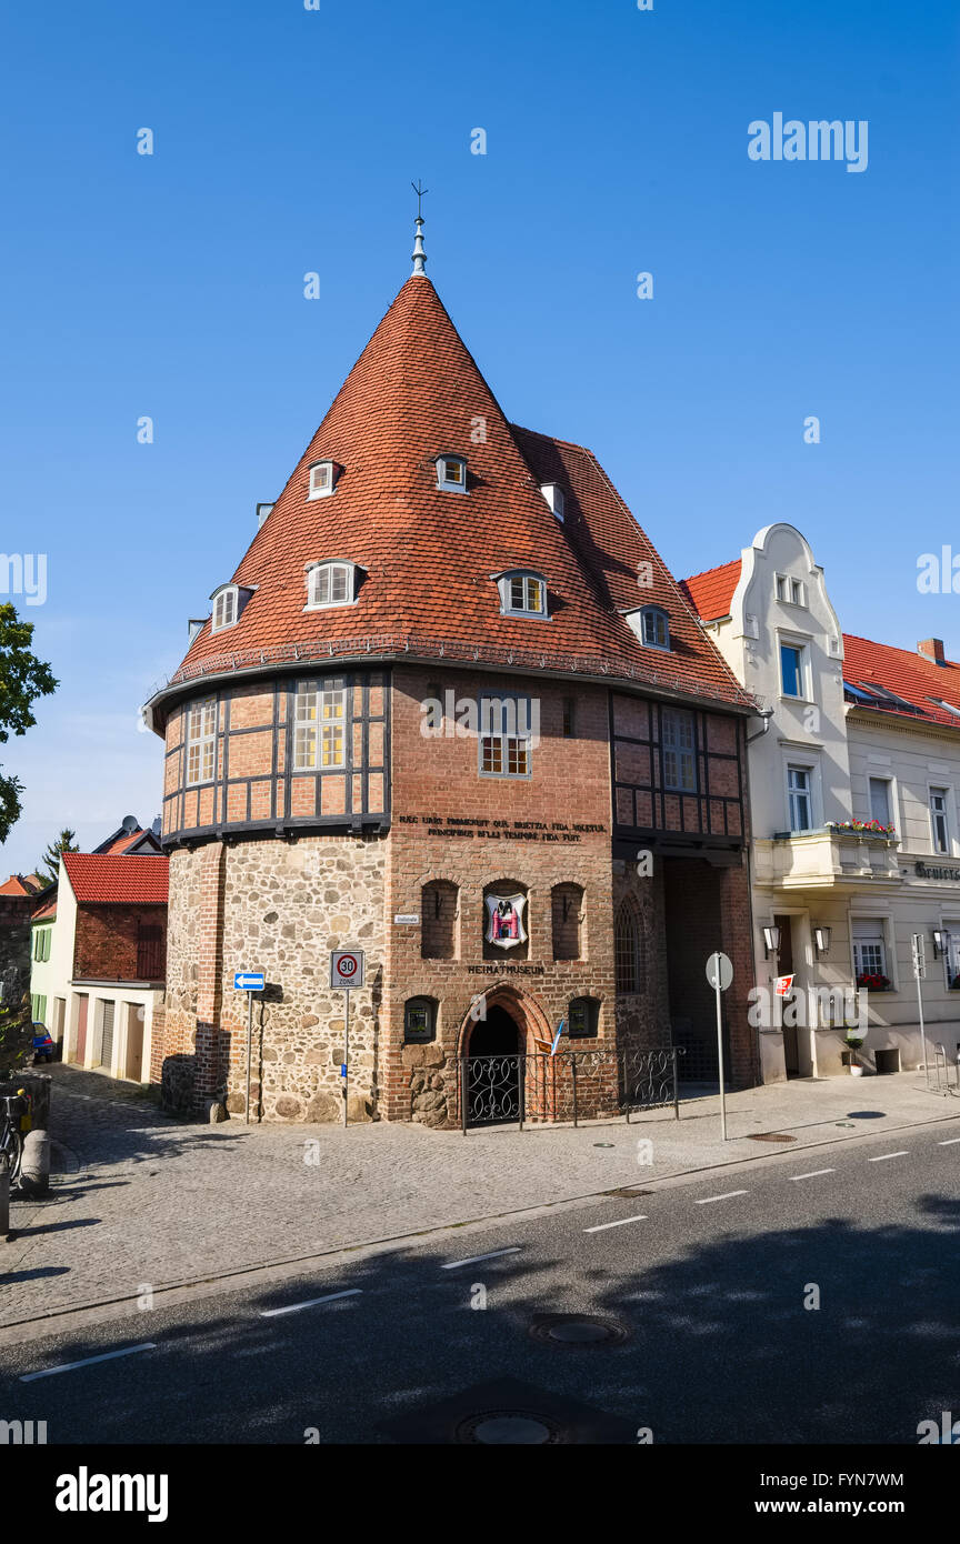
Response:
[[[668,1175],[960,1118],[923,1078],[798,1081],[644,1119],[528,1132],[184,1124],[131,1084],[52,1067],[54,1186],[12,1206],[0,1325]],[[750,1133],[778,1132],[790,1143]]]

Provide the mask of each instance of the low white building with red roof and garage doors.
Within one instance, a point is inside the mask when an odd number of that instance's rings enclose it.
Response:
[[[164,1002],[167,869],[157,855],[68,852],[57,894],[32,919],[34,1019],[62,1058],[150,1081],[154,1010]]]

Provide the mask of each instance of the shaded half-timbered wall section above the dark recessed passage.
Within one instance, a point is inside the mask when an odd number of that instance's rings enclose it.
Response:
[[[724,713],[611,692],[614,835],[742,843],[742,727]]]

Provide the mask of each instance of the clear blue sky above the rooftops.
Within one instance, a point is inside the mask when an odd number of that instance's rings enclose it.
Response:
[[[62,686],[0,753],[3,872],[159,812],[137,707],[407,276],[411,178],[506,412],[590,445],[678,576],[790,520],[847,631],[958,656],[915,582],[960,553],[958,40],[955,0],[8,11],[0,547],[48,554]],[[866,119],[867,170],[750,161],[776,111]]]

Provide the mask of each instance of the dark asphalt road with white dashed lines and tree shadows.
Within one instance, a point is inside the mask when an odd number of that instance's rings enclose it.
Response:
[[[0,1416],[56,1444],[915,1445],[960,1419],[958,1226],[952,1119],[8,1346]],[[619,1339],[545,1322],[583,1314]]]

